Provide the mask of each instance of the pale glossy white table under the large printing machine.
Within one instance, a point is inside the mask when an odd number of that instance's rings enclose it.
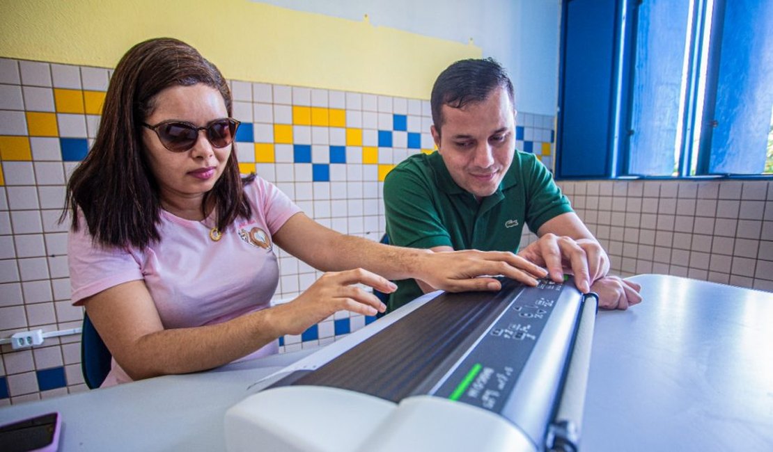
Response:
[[[773,450],[773,294],[632,279],[645,301],[598,314],[582,450]],[[9,406],[0,423],[59,411],[65,451],[224,450],[225,411],[309,352]]]

